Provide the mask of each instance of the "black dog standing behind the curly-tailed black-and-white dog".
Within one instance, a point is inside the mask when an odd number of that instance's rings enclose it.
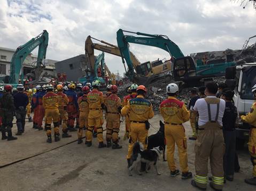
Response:
[[[154,147],[162,147],[162,160],[165,160],[165,124],[159,121],[160,128],[156,134],[150,135],[148,137],[148,149]]]

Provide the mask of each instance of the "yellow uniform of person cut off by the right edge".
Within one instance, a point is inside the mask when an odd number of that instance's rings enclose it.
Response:
[[[242,121],[249,123],[252,126],[248,142],[251,161],[253,164],[253,177],[256,177],[256,102],[253,103],[250,113],[246,116],[241,116]]]

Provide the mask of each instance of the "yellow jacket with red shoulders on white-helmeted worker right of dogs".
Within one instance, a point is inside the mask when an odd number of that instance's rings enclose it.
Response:
[[[162,101],[159,111],[167,123],[181,124],[189,120],[190,113],[185,104],[179,99],[169,96]]]

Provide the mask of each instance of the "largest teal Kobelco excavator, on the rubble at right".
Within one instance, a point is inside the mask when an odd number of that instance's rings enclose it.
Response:
[[[136,34],[138,36],[144,37],[124,35],[123,32],[129,32],[131,34]],[[196,65],[193,58],[191,56],[184,56],[179,46],[177,46],[166,35],[150,35],[142,32],[132,32],[119,29],[117,31],[117,43],[120,49],[122,62],[126,62],[128,66],[126,76],[131,81],[138,82],[139,84],[144,85],[148,85],[150,84],[150,82],[156,81],[159,78],[157,75],[152,75],[148,78],[139,77],[136,75],[135,70],[138,71],[138,69],[135,69],[133,67],[134,64],[131,61],[129,43],[154,46],[167,51],[170,55],[170,60],[173,61],[172,78],[175,81],[184,81],[186,84],[190,86],[198,85],[198,82],[201,79],[225,76],[226,68],[236,65],[235,62]]]

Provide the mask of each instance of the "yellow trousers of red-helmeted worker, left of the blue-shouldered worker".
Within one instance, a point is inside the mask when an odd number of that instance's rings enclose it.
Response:
[[[117,142],[119,128],[120,128],[120,115],[108,113],[106,140],[110,141],[111,139],[113,139],[113,142]]]

